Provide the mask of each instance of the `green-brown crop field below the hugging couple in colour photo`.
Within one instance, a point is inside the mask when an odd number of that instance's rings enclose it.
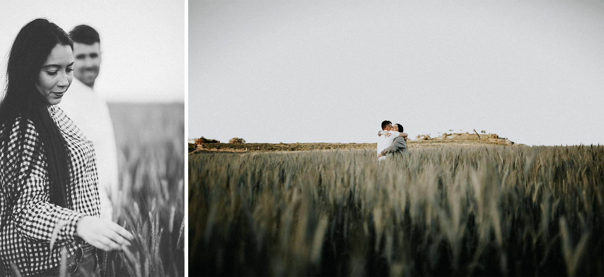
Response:
[[[191,153],[191,276],[604,275],[604,146]]]

